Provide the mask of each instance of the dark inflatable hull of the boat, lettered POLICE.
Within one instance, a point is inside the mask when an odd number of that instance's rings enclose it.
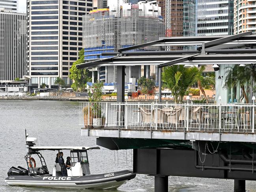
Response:
[[[36,176],[9,176],[5,179],[8,185],[19,186],[44,186],[54,188],[99,188],[110,189],[118,188],[126,181],[135,178],[136,174],[129,170],[117,171],[112,173],[72,176],[72,177],[53,177],[51,175]]]

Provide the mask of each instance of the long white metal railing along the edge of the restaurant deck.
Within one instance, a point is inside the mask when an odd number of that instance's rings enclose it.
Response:
[[[142,129],[254,133],[254,104],[80,102],[88,129]]]

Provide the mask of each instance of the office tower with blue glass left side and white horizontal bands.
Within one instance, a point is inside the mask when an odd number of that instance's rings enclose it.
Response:
[[[233,1],[184,0],[184,36],[232,35]]]

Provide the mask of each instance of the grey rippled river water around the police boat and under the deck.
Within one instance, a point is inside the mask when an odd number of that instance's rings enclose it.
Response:
[[[96,146],[93,137],[80,136],[78,125],[79,103],[70,101],[13,101],[0,100],[0,192],[96,192],[102,190],[63,190],[8,186],[4,179],[11,166],[24,166],[26,161],[25,133],[37,137],[37,145]],[[56,152],[44,151],[43,156],[52,170]],[[64,158],[69,156],[64,151]],[[127,151],[88,151],[92,174],[132,169],[132,153]],[[251,173],[248,173],[251,174]],[[256,192],[256,181],[247,181],[247,191]],[[108,190],[109,191],[109,190]],[[137,175],[122,185],[118,192],[153,192],[154,177]],[[169,177],[170,192],[232,192],[233,180],[195,177]],[[112,191],[111,191],[112,192]]]

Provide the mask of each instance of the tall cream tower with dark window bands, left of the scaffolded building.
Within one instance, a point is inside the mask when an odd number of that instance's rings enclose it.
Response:
[[[82,48],[82,15],[92,0],[28,0],[28,74],[34,87],[56,88],[62,77],[71,84],[69,69]]]

